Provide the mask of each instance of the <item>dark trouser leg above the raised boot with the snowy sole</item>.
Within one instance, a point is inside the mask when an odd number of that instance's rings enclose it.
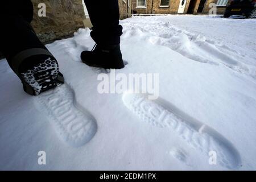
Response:
[[[46,49],[30,25],[32,19],[33,5],[30,0],[0,2],[0,52],[11,68],[11,60],[18,53],[32,48]]]

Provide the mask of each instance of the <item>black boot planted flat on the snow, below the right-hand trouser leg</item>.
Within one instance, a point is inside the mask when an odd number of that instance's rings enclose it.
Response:
[[[95,48],[95,49],[94,49]],[[120,44],[113,46],[95,45],[92,51],[83,51],[81,60],[90,67],[105,69],[122,69],[123,64]]]

